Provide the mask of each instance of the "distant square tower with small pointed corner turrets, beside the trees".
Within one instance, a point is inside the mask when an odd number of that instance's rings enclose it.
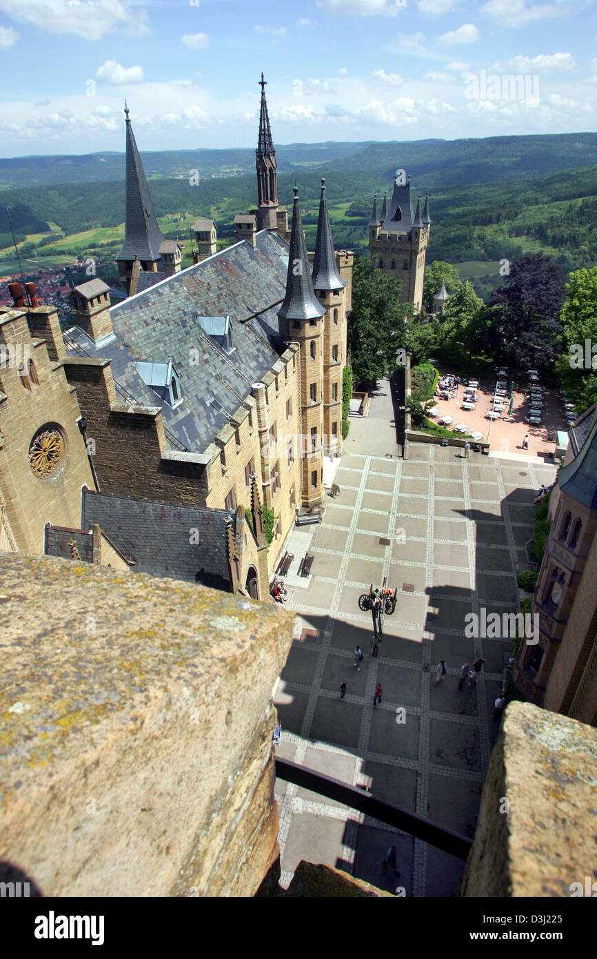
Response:
[[[400,170],[396,175],[389,208],[386,210],[384,200],[381,213],[379,228],[369,223],[369,252],[372,262],[384,273],[402,280],[402,303],[412,303],[415,313],[419,313],[423,306],[425,257],[431,222],[428,195],[423,214],[420,199],[413,213],[410,176],[408,182],[404,183],[403,171]]]

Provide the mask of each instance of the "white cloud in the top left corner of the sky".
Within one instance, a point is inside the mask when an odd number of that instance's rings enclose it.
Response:
[[[31,23],[50,34],[75,34],[99,40],[126,28],[147,33],[147,14],[130,11],[121,0],[0,0],[0,12],[19,23]]]

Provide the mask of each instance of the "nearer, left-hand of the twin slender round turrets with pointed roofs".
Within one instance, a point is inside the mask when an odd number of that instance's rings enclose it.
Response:
[[[287,290],[278,311],[280,335],[299,344],[301,371],[302,497],[305,506],[323,502],[324,320],[313,291],[307,244],[294,187]]]

